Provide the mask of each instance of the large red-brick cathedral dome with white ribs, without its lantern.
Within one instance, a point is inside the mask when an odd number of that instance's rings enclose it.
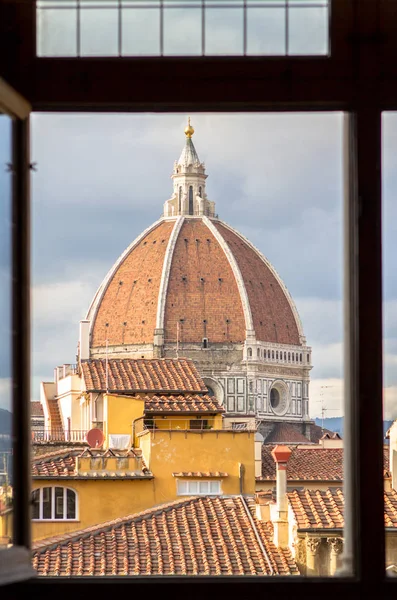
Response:
[[[302,345],[283,282],[254,246],[206,216],[166,217],[139,236],[98,289],[91,348],[256,340]]]

